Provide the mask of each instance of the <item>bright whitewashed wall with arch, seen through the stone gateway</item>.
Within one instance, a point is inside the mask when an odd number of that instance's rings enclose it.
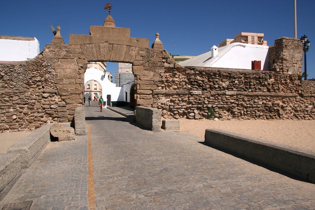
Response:
[[[84,73],[84,84],[89,80],[95,80],[102,86],[102,97],[104,101],[107,100],[107,95],[111,95],[111,101],[124,101],[122,87],[116,87],[115,83],[108,80],[108,74],[104,76],[104,73],[95,68],[88,68]],[[106,106],[107,107],[107,103]]]

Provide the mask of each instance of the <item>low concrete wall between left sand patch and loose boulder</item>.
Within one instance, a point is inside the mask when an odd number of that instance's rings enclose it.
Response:
[[[20,154],[22,168],[28,168],[50,141],[50,126],[47,124],[10,146],[8,153]]]

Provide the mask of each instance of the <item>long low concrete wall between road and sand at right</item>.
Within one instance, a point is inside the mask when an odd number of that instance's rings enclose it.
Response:
[[[220,129],[207,129],[204,141],[315,183],[315,152]]]

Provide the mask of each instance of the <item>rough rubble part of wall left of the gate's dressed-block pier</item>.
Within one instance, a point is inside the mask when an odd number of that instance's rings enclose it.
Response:
[[[34,130],[58,120],[54,65],[43,55],[0,64],[0,132]]]

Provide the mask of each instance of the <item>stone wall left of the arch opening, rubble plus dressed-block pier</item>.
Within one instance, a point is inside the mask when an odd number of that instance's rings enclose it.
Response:
[[[0,132],[72,121],[82,105],[82,55],[79,46],[48,44],[30,61],[0,64]]]

